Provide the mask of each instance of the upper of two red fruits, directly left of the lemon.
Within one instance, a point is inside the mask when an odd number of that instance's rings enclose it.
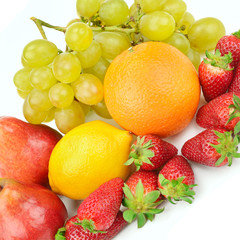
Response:
[[[46,125],[0,117],[0,178],[46,185],[49,158],[61,137]]]

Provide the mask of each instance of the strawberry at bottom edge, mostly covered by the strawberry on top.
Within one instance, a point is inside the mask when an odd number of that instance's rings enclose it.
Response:
[[[55,236],[56,240],[111,240],[113,239],[128,223],[123,219],[121,211],[118,212],[113,224],[104,232],[92,233],[89,230],[84,230],[77,215],[70,218],[65,228],[60,228]]]

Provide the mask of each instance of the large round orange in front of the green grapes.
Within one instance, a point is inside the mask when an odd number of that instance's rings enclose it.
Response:
[[[113,60],[104,79],[104,95],[122,128],[136,135],[168,137],[194,117],[200,85],[183,53],[166,43],[146,42]]]

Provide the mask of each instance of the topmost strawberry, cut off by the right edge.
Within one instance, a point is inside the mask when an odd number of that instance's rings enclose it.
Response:
[[[231,52],[233,58],[232,66],[236,67],[240,60],[240,31],[222,37],[216,45],[217,49],[219,49],[222,55]]]

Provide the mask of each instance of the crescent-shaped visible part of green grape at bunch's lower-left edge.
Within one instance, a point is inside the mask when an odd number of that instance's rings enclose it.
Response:
[[[23,104],[23,115],[25,119],[32,124],[42,123],[46,119],[48,112],[40,112],[40,111],[34,110],[30,106],[28,100],[29,100],[29,97],[25,99]]]

